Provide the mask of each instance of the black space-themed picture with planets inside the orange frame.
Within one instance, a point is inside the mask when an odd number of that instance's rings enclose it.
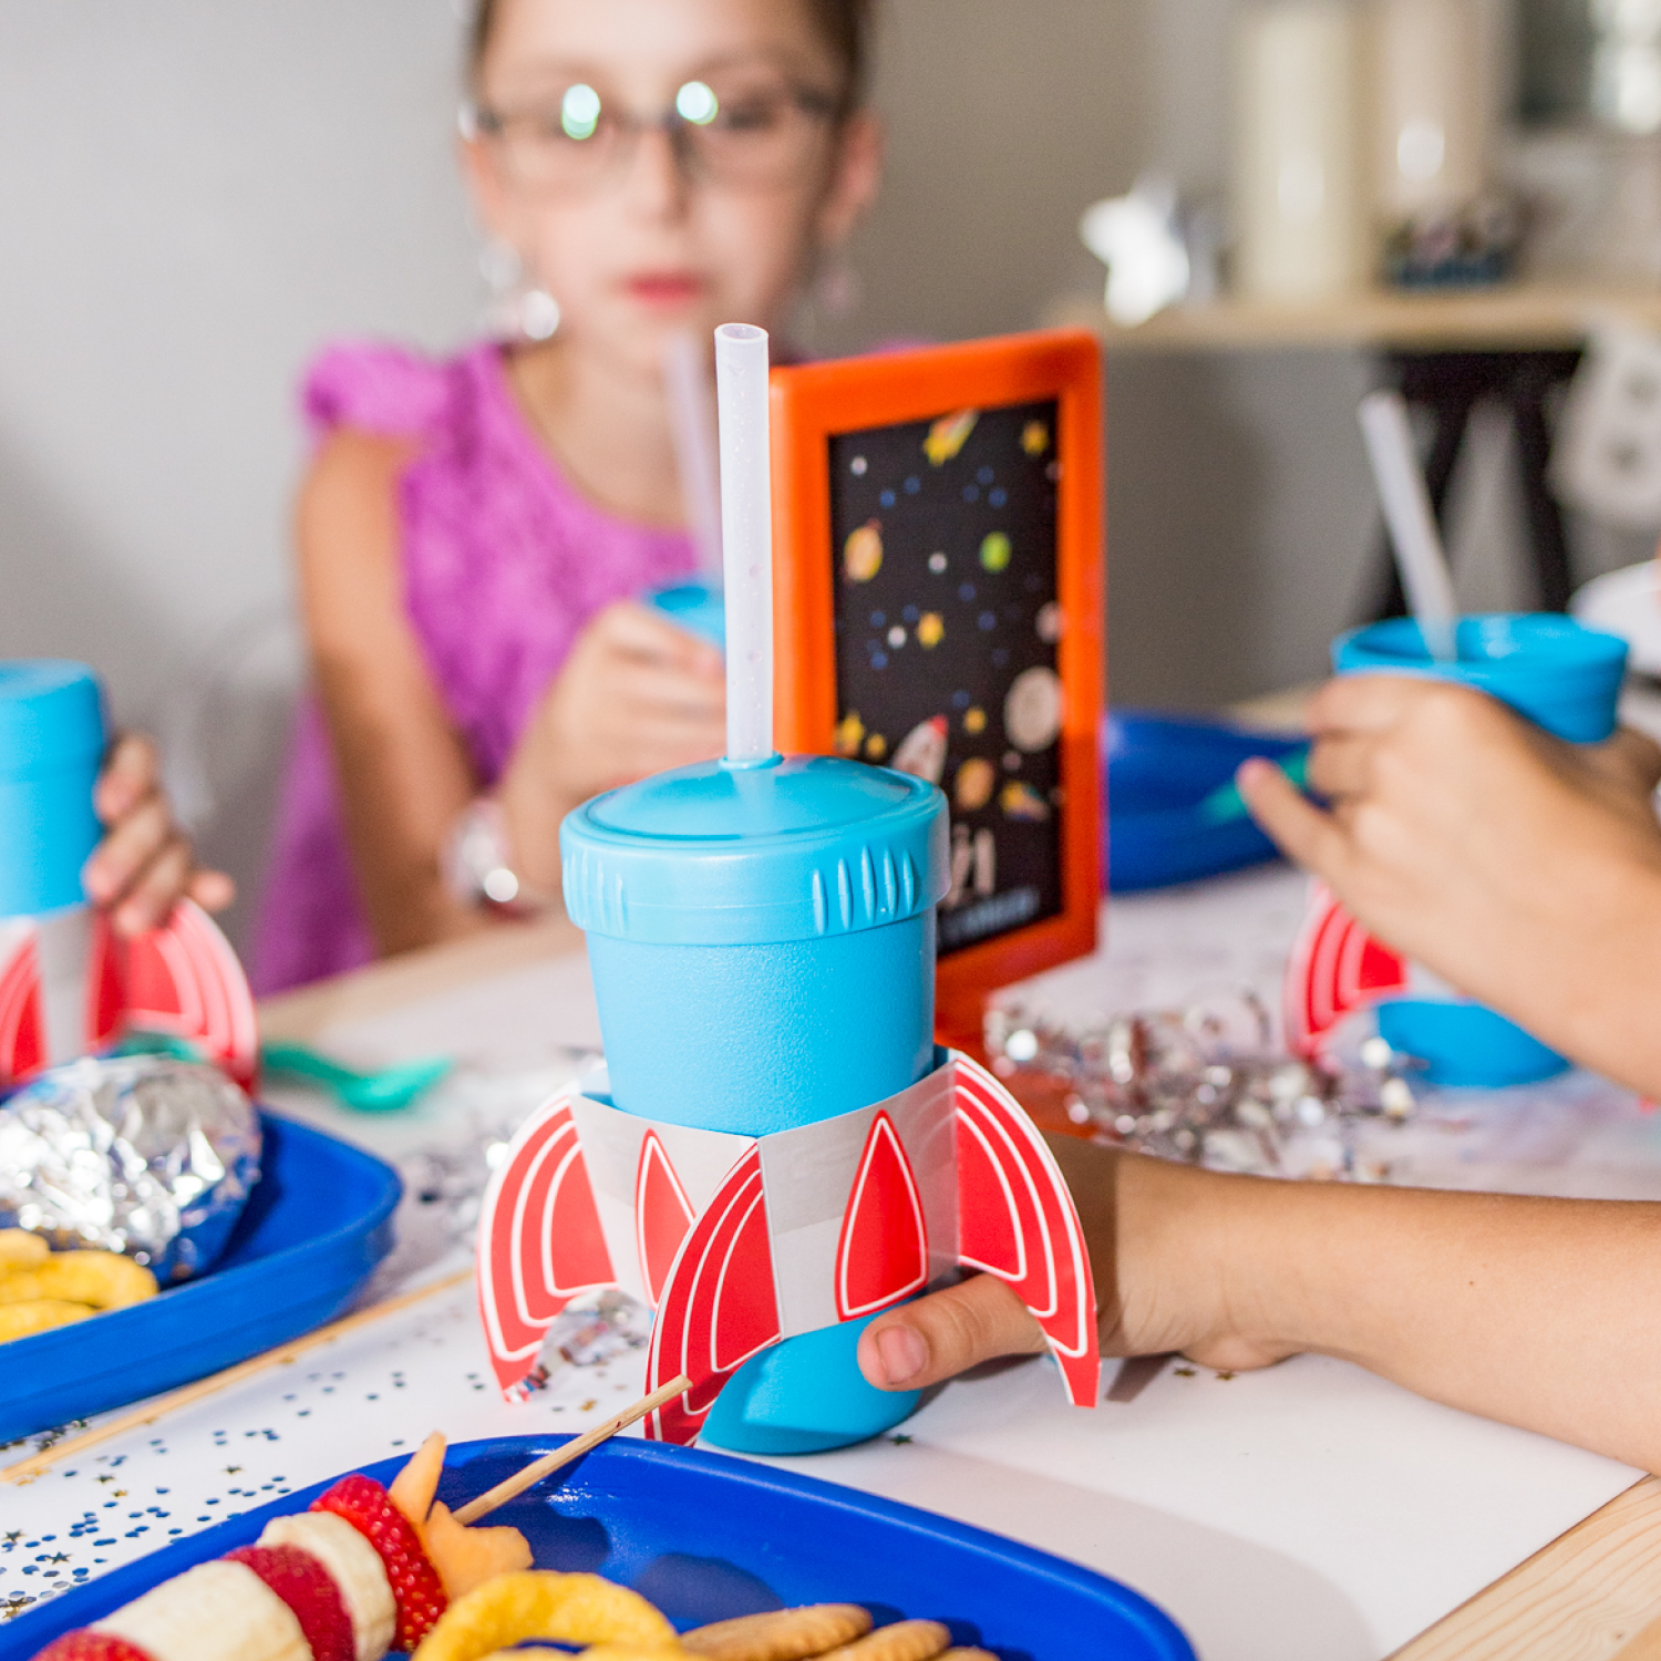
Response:
[[[1056,400],[830,439],[842,756],[947,791],[948,955],[1061,910]]]

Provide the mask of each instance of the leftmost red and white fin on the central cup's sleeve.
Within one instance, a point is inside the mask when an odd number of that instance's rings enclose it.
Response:
[[[560,1311],[613,1279],[570,1095],[560,1093],[520,1126],[478,1218],[478,1312],[508,1400],[525,1394]]]

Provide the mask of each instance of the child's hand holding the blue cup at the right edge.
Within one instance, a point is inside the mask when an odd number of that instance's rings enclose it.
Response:
[[[1565,744],[1450,681],[1330,681],[1306,801],[1246,762],[1257,822],[1374,935],[1546,1043],[1661,1090],[1661,751]],[[1638,1003],[1651,1013],[1643,1015]]]

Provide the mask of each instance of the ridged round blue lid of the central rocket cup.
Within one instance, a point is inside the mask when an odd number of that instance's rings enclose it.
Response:
[[[950,887],[945,797],[835,756],[704,761],[626,784],[566,816],[560,855],[580,928],[661,945],[880,928]]]

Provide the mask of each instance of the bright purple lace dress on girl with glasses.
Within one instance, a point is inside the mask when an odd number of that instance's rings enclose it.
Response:
[[[495,784],[583,625],[691,571],[679,532],[585,502],[527,427],[502,350],[447,362],[389,345],[324,352],[304,389],[317,439],[341,427],[415,439],[399,485],[404,608],[482,789]],[[254,947],[254,987],[374,957],[321,711],[301,706]]]

